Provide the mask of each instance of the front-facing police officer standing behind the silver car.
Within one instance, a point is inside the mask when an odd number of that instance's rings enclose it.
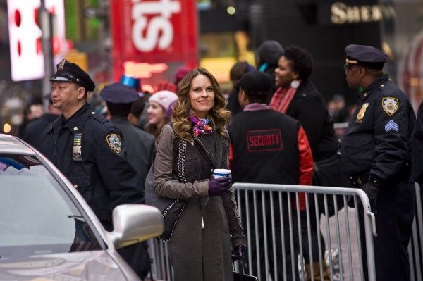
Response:
[[[63,59],[50,81],[51,101],[62,114],[42,133],[40,151],[111,230],[114,207],[143,201],[140,176],[126,159],[121,131],[87,104],[95,87],[90,76]]]

